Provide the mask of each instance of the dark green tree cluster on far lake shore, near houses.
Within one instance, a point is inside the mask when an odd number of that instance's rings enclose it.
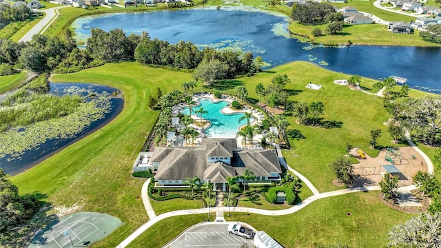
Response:
[[[305,25],[317,25],[326,22],[328,14],[334,14],[336,9],[329,3],[307,2],[294,4],[291,18]]]

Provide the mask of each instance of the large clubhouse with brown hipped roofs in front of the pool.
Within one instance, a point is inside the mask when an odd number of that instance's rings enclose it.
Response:
[[[138,166],[152,169],[161,187],[184,185],[185,178],[197,176],[223,191],[226,178],[242,175],[245,169],[256,180],[278,181],[282,173],[276,150],[237,149],[236,138],[203,138],[199,147],[155,147],[136,158],[134,171]]]

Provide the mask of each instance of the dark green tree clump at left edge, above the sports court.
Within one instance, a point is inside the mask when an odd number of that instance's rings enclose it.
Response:
[[[0,168],[0,231],[29,220],[40,208],[36,196],[19,196],[19,189],[8,180]]]

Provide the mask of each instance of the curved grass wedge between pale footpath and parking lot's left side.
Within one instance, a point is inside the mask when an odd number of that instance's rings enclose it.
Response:
[[[144,231],[138,238],[133,240],[127,247],[163,247],[181,234],[185,229],[207,220],[207,214],[193,214],[187,216],[174,216],[161,220],[152,227]],[[215,215],[210,216],[209,220],[214,221]]]

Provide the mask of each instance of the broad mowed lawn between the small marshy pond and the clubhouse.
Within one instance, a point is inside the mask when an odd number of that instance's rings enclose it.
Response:
[[[147,110],[147,96],[180,88],[191,76],[138,63],[112,63],[74,74],[52,76],[54,82],[97,83],[121,90],[121,114],[81,141],[13,176],[20,194],[41,192],[55,206],[77,203],[83,211],[97,211],[120,218],[124,225],[96,247],[115,247],[148,218],[141,194],[143,180],[132,178],[130,169],[145,136],[152,130],[158,112]]]

